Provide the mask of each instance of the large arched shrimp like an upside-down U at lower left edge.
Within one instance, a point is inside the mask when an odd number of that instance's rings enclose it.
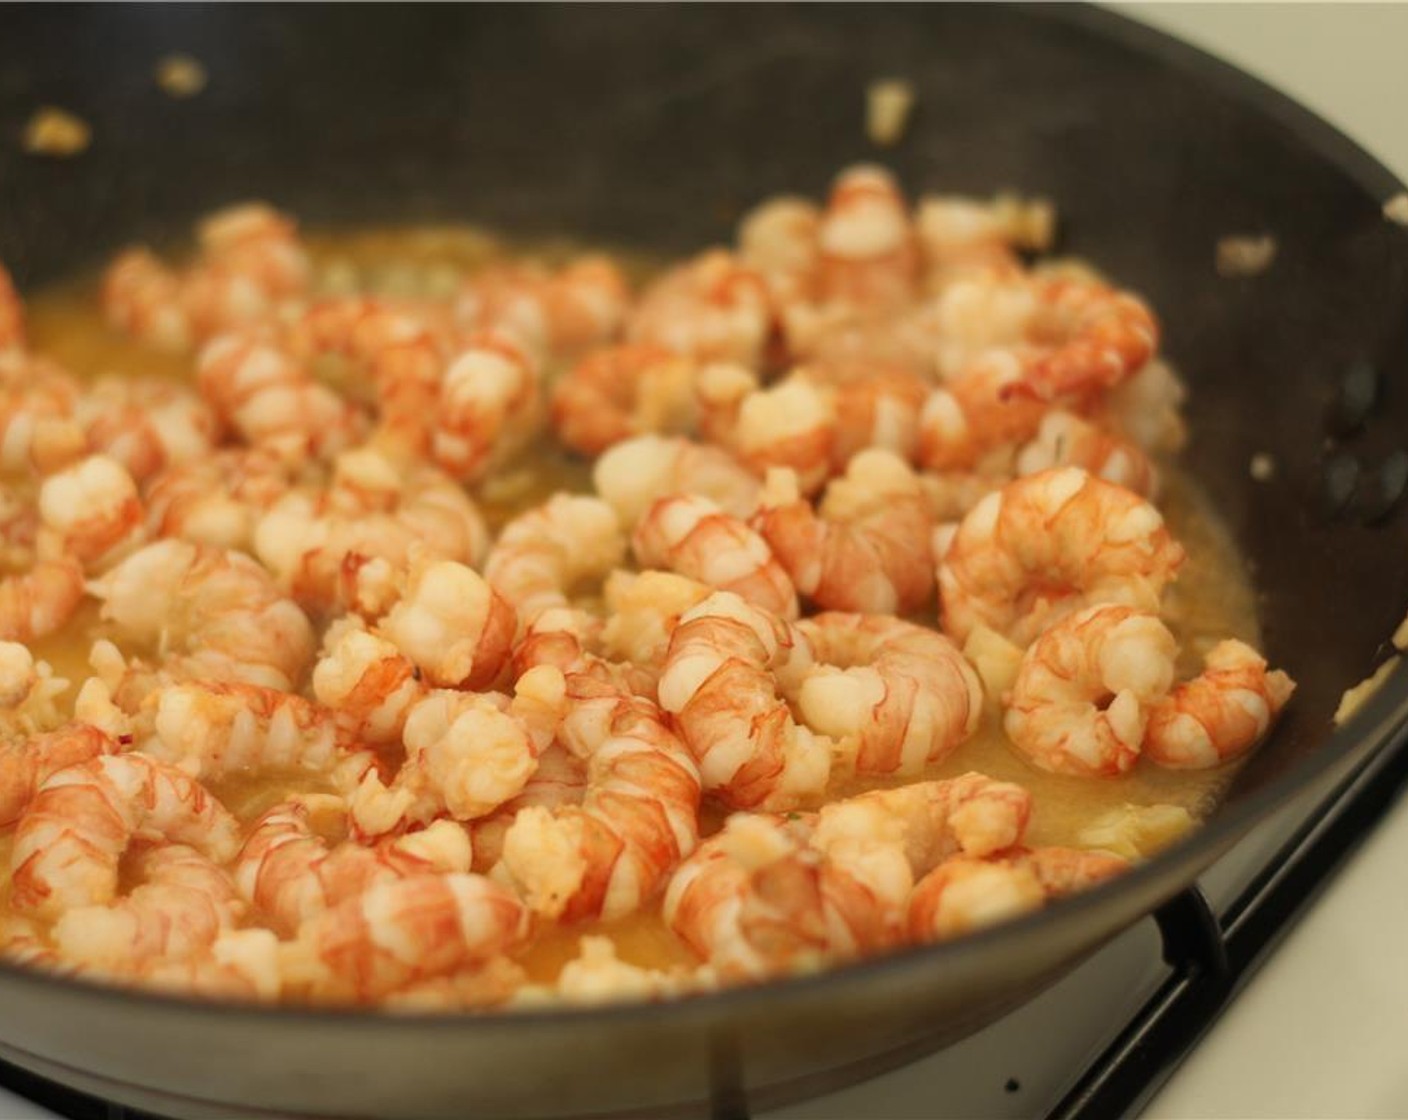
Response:
[[[145,755],[66,766],[39,785],[15,826],[10,902],[41,917],[106,906],[117,897],[122,852],[153,837],[224,864],[239,824],[193,778]]]

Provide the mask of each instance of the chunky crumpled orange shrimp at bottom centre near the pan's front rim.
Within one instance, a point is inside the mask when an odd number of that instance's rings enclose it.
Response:
[[[674,872],[666,924],[724,979],[812,971],[894,944],[893,909],[808,834],[805,819],[735,813]]]

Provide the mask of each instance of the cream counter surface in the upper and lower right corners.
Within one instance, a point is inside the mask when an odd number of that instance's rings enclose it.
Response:
[[[1408,4],[1114,7],[1288,93],[1408,179]],[[1401,803],[1145,1116],[1408,1116],[1405,862]]]

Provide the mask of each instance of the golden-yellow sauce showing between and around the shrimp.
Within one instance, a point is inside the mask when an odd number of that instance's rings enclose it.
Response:
[[[459,227],[387,228],[349,234],[313,234],[307,244],[317,265],[320,286],[325,292],[370,289],[389,296],[435,296],[455,290],[458,279],[503,254],[494,238]],[[535,247],[545,261],[566,255],[566,244]],[[645,258],[628,259],[632,279],[649,273]],[[48,354],[79,376],[127,373],[168,376],[189,380],[190,356],[172,356],[138,345],[110,330],[97,310],[97,290],[92,279],[42,292],[28,300],[32,348]],[[1246,566],[1226,530],[1218,521],[1207,494],[1186,475],[1164,469],[1160,509],[1173,535],[1188,554],[1178,580],[1169,593],[1167,621],[1178,637],[1183,654],[1180,673],[1198,671],[1201,655],[1221,638],[1235,637],[1259,644],[1255,595]],[[477,499],[490,524],[497,527],[515,513],[541,503],[559,489],[589,490],[590,465],[560,449],[542,447],[534,455],[510,466],[484,483]],[[922,621],[935,624],[932,607]],[[62,633],[34,644],[37,657],[48,661],[58,676],[73,682],[66,700],[90,673],[87,651],[104,633],[97,607],[84,604]],[[1202,819],[1215,806],[1231,780],[1235,765],[1217,771],[1166,771],[1140,762],[1117,779],[1081,779],[1050,775],[1026,764],[1008,745],[1000,711],[988,702],[979,733],[926,778],[946,778],[966,771],[981,771],[994,778],[1018,782],[1035,796],[1035,811],[1028,835],[1032,845],[1074,844],[1081,827],[1093,817],[1122,804],[1171,804]],[[907,779],[912,780],[912,779]],[[836,796],[876,788],[881,783],[838,788]],[[213,792],[241,819],[252,820],[291,792],[325,792],[318,778],[286,775],[270,778],[228,778]],[[722,820],[715,807],[705,807],[703,824],[712,831]],[[11,834],[0,834],[0,868],[8,868]],[[0,926],[11,917],[7,907],[8,885],[0,885]],[[572,930],[546,928],[521,957],[534,981],[549,982],[577,952],[583,934],[605,934],[615,942],[618,955],[639,965],[666,966],[691,962],[689,951],[665,930],[658,907],[629,919],[586,924]]]

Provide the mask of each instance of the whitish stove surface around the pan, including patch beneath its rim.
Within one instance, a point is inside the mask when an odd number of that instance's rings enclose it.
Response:
[[[1117,4],[1286,90],[1408,178],[1408,4]],[[1378,827],[1145,1116],[1405,1117],[1408,802]],[[1143,921],[972,1038],[759,1120],[1039,1116],[1163,976]],[[1071,997],[1073,993],[1080,993]],[[1088,1009],[1087,1016],[1081,1016]],[[1041,1040],[1042,1057],[1032,1052]],[[1060,1061],[1052,1061],[1053,1051]],[[1053,1071],[1070,1071],[1067,1074]],[[0,1089],[0,1120],[54,1113]]]

